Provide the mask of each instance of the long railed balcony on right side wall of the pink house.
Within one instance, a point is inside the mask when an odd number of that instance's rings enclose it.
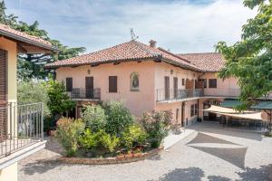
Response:
[[[184,90],[156,90],[157,102],[161,101],[175,101],[184,99],[193,99],[203,96],[203,90],[200,89],[184,89]]]

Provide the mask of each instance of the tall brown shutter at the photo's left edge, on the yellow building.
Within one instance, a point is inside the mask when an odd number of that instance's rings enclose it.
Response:
[[[0,141],[5,139],[6,132],[6,62],[7,62],[7,52],[0,49]]]

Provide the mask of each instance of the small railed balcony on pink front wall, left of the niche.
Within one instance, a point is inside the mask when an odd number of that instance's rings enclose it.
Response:
[[[82,88],[74,88],[71,93],[73,100],[101,100],[101,89],[85,90]]]

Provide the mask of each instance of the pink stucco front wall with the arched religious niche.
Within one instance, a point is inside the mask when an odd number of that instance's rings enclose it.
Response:
[[[101,88],[101,99],[124,100],[126,106],[135,116],[141,116],[146,110],[153,110],[154,98],[154,72],[153,61],[121,62],[102,64],[96,67],[80,66],[76,68],[63,67],[56,72],[56,80],[65,82],[66,77],[73,77],[73,88],[85,88],[85,77],[93,76],[93,87]],[[90,70],[90,74],[88,74]],[[140,90],[131,91],[131,73],[139,73]],[[118,77],[118,92],[109,92],[109,76]]]

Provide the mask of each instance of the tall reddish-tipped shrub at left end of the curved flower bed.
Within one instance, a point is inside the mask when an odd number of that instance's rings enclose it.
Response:
[[[73,156],[76,152],[83,130],[84,123],[81,119],[62,118],[57,121],[57,138],[65,148],[67,156]]]

